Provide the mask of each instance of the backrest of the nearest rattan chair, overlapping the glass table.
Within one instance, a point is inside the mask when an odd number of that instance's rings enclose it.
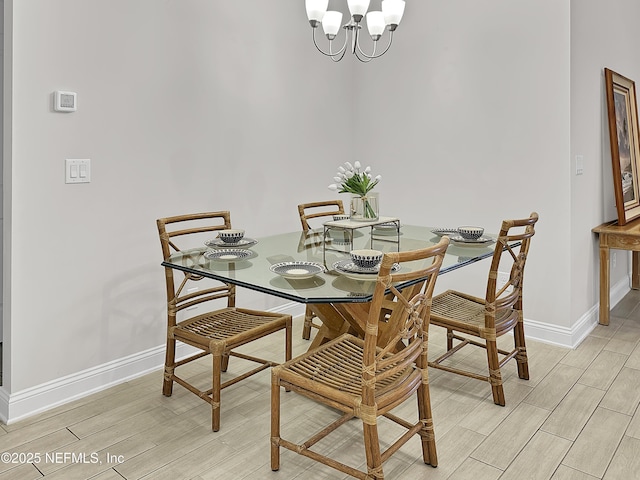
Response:
[[[362,395],[365,405],[373,405],[376,383],[393,381],[412,364],[415,363],[423,375],[427,374],[433,289],[448,246],[449,238],[445,236],[431,247],[385,253],[382,257],[364,335]],[[400,268],[394,272],[395,264]],[[398,282],[410,285],[400,291],[394,286]],[[381,346],[378,331],[382,318],[387,339]]]

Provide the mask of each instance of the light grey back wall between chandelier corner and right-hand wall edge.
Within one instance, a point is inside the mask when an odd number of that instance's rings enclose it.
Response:
[[[355,72],[357,145],[383,170],[383,210],[490,231],[537,211],[526,318],[570,328],[568,2],[407,3],[391,51]],[[487,269],[438,289],[483,296]]]

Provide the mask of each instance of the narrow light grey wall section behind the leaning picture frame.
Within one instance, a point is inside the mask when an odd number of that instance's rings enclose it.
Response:
[[[591,229],[617,219],[611,174],[611,151],[604,68],[640,81],[640,30],[636,0],[571,2],[571,158],[583,155],[585,171],[572,176],[571,307],[572,318],[598,301],[597,237]],[[617,252],[611,285],[628,284],[627,252]]]

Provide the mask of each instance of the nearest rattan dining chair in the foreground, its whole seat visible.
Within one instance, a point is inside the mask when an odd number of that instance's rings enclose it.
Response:
[[[449,239],[443,237],[438,244],[425,249],[383,256],[364,339],[343,334],[271,369],[272,470],[280,468],[280,447],[284,447],[356,478],[383,479],[383,463],[413,435],[418,435],[422,442],[423,461],[437,465],[427,349],[433,288],[448,244]],[[412,261],[419,265],[416,267],[414,263],[413,271],[406,265]],[[396,263],[400,266],[397,271]],[[394,286],[398,282],[413,284],[400,291]],[[385,346],[377,347],[379,322],[385,322],[387,332],[392,334]],[[398,348],[400,343],[404,348]],[[285,440],[280,425],[281,388],[336,409],[342,415],[336,418],[334,413],[327,412],[332,416],[327,422],[331,423],[303,443]],[[391,413],[414,394],[417,394],[417,421],[410,422]],[[380,416],[406,429],[384,451],[378,437]],[[288,417],[284,425],[299,421]],[[354,417],[362,420],[366,472],[329,457],[327,452],[321,453],[316,445]],[[388,431],[381,429],[380,433]],[[386,441],[385,438],[385,444]]]

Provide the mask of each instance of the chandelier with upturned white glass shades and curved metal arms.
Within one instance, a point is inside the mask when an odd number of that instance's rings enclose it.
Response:
[[[342,12],[327,11],[329,0],[306,0],[307,17],[313,30],[313,44],[318,51],[330,57],[334,62],[339,62],[344,58],[347,45],[349,44],[349,40],[351,40],[351,53],[361,62],[370,62],[372,59],[381,57],[387,53],[393,41],[393,32],[398,28],[398,24],[404,13],[404,0],[382,0],[381,12],[371,11],[367,13],[369,2],[370,0],[347,0],[351,20],[349,20],[347,24],[342,25]],[[369,30],[371,40],[373,40],[373,51],[370,55],[364,53],[362,48],[360,48],[359,35],[360,29],[362,28],[361,22],[365,14],[367,18],[367,29]],[[322,24],[322,30],[327,36],[327,40],[329,40],[329,49],[327,51],[322,50],[316,40],[316,30],[320,24]],[[333,41],[338,35],[341,26],[345,30],[344,44],[339,50],[334,51]],[[378,52],[378,40],[380,40],[387,27],[389,30],[389,42],[384,50]]]

